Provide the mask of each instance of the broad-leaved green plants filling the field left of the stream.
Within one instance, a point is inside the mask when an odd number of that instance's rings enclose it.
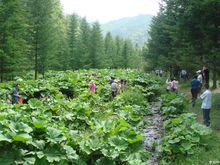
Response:
[[[114,100],[110,76],[126,79]],[[97,93],[88,90],[89,79]],[[138,71],[50,72],[45,80],[19,80],[23,105],[8,105],[13,89],[0,85],[0,162],[4,164],[145,164],[143,115],[160,94],[157,78]]]

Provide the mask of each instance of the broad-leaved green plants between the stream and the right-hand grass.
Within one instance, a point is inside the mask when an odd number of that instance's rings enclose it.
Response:
[[[187,113],[185,98],[175,93],[161,97],[165,135],[161,142],[163,161],[177,161],[194,153],[201,138],[211,130],[197,122],[195,114]]]

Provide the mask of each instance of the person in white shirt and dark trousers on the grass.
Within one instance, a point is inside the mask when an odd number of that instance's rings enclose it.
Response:
[[[200,96],[202,99],[202,111],[203,111],[203,119],[204,119],[204,124],[206,126],[210,126],[210,110],[212,107],[212,94],[211,91],[209,90],[209,85],[205,85],[205,92]]]

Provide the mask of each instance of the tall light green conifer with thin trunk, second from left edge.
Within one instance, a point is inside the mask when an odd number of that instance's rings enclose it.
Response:
[[[38,73],[44,75],[51,61],[54,60],[55,40],[57,31],[54,28],[54,8],[57,1],[54,0],[30,0],[30,25],[32,32],[32,53],[34,54],[35,79]]]

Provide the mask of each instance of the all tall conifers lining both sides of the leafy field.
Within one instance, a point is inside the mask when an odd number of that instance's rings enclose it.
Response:
[[[149,39],[140,47],[109,32],[103,35],[98,22],[64,15],[60,0],[1,0],[0,79],[90,68],[161,68],[171,75],[184,68],[193,75],[205,65],[216,87],[219,20],[219,0],[162,0]]]

